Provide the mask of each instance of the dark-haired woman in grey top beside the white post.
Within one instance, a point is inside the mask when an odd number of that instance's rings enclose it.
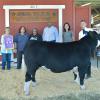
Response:
[[[72,32],[71,32],[69,23],[64,24],[63,30],[64,30],[64,32],[63,32],[63,42],[72,42],[73,36],[72,36]]]

